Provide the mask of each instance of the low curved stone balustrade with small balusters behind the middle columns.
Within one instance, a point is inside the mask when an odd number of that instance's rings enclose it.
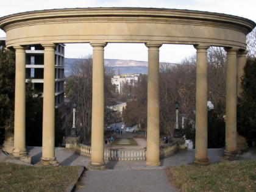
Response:
[[[177,141],[160,146],[160,158],[170,157],[179,150]],[[79,155],[91,157],[91,146],[76,141],[75,151]],[[146,148],[144,149],[104,149],[104,160],[136,161],[146,160]]]

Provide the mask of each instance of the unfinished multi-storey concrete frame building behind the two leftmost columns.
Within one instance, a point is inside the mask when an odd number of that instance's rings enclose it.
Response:
[[[55,108],[65,117],[64,102],[64,55],[65,45],[55,48]],[[29,46],[26,49],[26,82],[32,80],[34,88],[43,93],[44,48],[41,45]]]

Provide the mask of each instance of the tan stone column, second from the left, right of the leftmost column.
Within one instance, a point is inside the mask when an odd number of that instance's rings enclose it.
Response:
[[[56,165],[55,158],[55,44],[44,47],[43,143],[41,164]]]

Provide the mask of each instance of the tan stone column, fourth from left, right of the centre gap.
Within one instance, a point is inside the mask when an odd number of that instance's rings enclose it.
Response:
[[[148,135],[146,166],[160,166],[159,155],[159,48],[162,44],[146,43],[148,47]]]

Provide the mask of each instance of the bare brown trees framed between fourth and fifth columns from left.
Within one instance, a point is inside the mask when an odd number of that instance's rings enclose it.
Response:
[[[180,114],[190,114],[195,104],[195,58],[184,59],[176,66],[160,65],[160,132],[173,135],[176,123],[176,108]],[[181,115],[179,115],[181,119]],[[181,122],[181,121],[180,121]]]

